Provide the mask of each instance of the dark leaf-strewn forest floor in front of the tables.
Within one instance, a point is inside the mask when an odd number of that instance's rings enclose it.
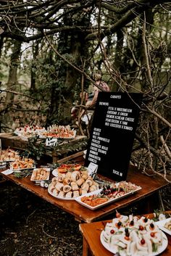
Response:
[[[72,215],[10,181],[0,180],[0,200],[0,256],[82,255]]]

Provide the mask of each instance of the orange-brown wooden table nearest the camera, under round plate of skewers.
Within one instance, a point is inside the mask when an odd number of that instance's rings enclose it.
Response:
[[[151,218],[149,215],[148,217]],[[113,256],[113,253],[105,249],[100,241],[101,231],[109,221],[110,220],[82,223],[79,225],[80,232],[83,235],[83,256]],[[168,239],[168,247],[162,252],[162,256],[171,255],[171,236],[168,234],[166,235]]]

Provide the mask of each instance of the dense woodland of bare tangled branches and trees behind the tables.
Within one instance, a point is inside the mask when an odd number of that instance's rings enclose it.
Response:
[[[73,125],[100,73],[111,91],[142,92],[131,162],[170,181],[171,3],[164,0],[0,2],[1,132]],[[83,95],[83,94],[82,94]]]

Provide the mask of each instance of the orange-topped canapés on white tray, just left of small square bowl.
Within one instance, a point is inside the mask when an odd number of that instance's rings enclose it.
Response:
[[[22,158],[22,160],[15,160],[11,162],[10,169],[11,170],[18,170],[18,169],[29,169],[34,168],[35,162],[31,158]]]

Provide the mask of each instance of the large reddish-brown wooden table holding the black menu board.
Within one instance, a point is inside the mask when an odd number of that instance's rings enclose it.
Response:
[[[75,159],[77,159],[77,157]],[[141,209],[143,209],[142,213],[151,212],[154,210],[154,204],[152,202],[154,202],[154,197],[157,199],[157,192],[159,189],[167,186],[167,181],[165,181],[160,176],[149,177],[141,173],[137,168],[130,166],[128,170],[128,181],[141,186],[142,189],[137,191],[135,194],[130,195],[129,197],[120,199],[110,205],[106,205],[105,207],[101,207],[97,210],[89,210],[74,200],[68,201],[52,197],[48,193],[47,189],[44,189],[41,186],[36,186],[33,181],[30,181],[30,177],[15,178],[13,174],[6,176],[2,174],[1,171],[2,170],[0,170],[0,174],[7,180],[16,183],[17,185],[27,189],[33,194],[36,194],[38,197],[41,197],[47,202],[50,202],[62,210],[69,212],[71,215],[75,216],[76,220],[84,223],[91,223],[96,220],[104,219],[110,214],[114,213],[116,210],[120,210],[125,207],[131,207],[133,203],[141,203]],[[159,203],[159,201],[157,202]]]

